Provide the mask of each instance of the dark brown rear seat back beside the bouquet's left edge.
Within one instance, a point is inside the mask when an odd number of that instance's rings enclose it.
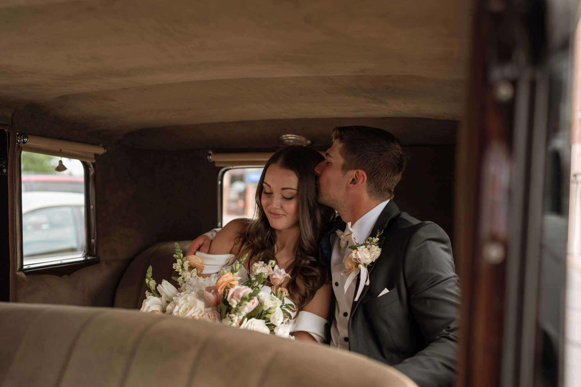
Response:
[[[185,255],[191,241],[177,242]],[[115,292],[113,306],[127,309],[141,308],[147,289],[145,274],[149,266],[152,266],[153,279],[155,279],[157,284],[161,284],[162,279],[167,279],[177,287],[178,284],[171,279],[171,277],[177,275],[172,266],[175,263],[174,254],[174,242],[156,243],[139,253],[121,276]]]

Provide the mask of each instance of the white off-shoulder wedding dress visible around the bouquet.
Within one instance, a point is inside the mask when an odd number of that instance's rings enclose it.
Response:
[[[236,261],[236,256],[234,254],[206,254],[202,252],[196,252],[196,256],[200,257],[204,261],[204,274],[218,273],[221,268],[227,268]],[[245,268],[241,268],[238,272],[239,277],[242,281],[248,277],[248,271]],[[263,286],[263,289],[270,289],[270,286]],[[294,304],[289,298],[285,298],[286,303]],[[314,313],[310,313],[304,310],[295,312],[292,314],[293,318],[290,320],[289,328],[290,332],[304,331],[309,332],[318,343],[325,342],[325,331],[329,321],[325,320]]]

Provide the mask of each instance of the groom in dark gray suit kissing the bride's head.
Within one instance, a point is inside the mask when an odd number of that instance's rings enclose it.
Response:
[[[342,219],[319,248],[332,276],[331,347],[389,364],[420,387],[451,386],[460,287],[450,240],[438,225],[400,212],[393,202],[406,162],[392,134],[352,126],[333,129],[332,138],[326,159],[315,167],[318,200]],[[369,285],[356,294],[361,275],[347,284],[349,276],[341,273],[349,246],[378,232],[381,255],[367,267]],[[200,236],[188,254],[207,245],[209,238]]]

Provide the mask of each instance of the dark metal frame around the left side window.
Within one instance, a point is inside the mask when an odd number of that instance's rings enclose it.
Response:
[[[22,222],[22,164],[21,155],[23,150],[19,149],[19,154],[17,155],[19,160],[19,166],[15,168],[15,173],[18,174],[19,184],[15,184],[16,197],[19,200],[19,208],[16,211],[16,216],[18,217],[19,232],[20,235],[17,236],[17,241],[20,246],[17,246],[17,261],[19,262],[20,271],[26,275],[34,274],[52,274],[52,275],[67,275],[80,268],[91,266],[93,264],[99,263],[101,259],[96,255],[96,223],[95,223],[95,169],[93,163],[81,161],[83,165],[83,170],[85,172],[85,250],[83,255],[75,258],[68,258],[62,260],[49,261],[44,263],[33,263],[24,264],[24,253],[23,253],[23,222]],[[34,152],[31,152],[34,153]]]

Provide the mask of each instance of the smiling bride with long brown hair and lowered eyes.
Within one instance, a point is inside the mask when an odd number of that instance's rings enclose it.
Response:
[[[328,273],[315,258],[322,227],[334,213],[317,202],[313,170],[323,159],[300,145],[275,152],[256,189],[256,219],[232,220],[209,250],[210,255],[232,254],[237,259],[248,253],[249,271],[257,261],[274,260],[290,274],[281,284],[298,311],[290,331],[296,339],[318,342],[324,342],[332,292]]]

